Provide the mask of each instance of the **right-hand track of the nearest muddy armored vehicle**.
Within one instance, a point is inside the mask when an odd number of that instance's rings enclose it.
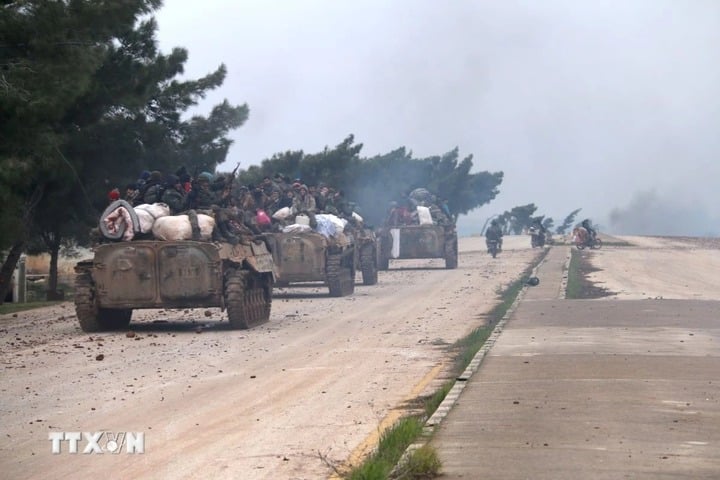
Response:
[[[272,277],[237,268],[225,273],[225,306],[232,328],[248,329],[270,319]]]

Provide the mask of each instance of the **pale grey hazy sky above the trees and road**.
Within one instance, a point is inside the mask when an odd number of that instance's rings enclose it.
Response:
[[[166,0],[160,47],[201,108],[247,103],[221,170],[348,134],[373,156],[459,147],[500,194],[615,233],[720,234],[720,1]],[[665,214],[664,212],[668,212]]]

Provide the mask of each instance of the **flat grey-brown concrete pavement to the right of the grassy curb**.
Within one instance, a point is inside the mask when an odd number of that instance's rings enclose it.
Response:
[[[566,258],[437,428],[443,478],[720,478],[720,302],[561,300]]]

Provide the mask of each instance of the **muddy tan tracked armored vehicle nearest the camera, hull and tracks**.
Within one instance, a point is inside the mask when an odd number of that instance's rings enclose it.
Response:
[[[95,247],[75,267],[75,309],[86,332],[126,328],[133,310],[220,307],[231,327],[270,317],[274,270],[262,240],[233,245],[138,240]]]

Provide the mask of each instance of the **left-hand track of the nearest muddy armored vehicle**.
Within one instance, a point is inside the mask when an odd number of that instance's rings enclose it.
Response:
[[[84,332],[126,328],[130,324],[132,310],[98,307],[90,268],[78,269],[75,277],[75,314],[80,322],[80,328]]]

